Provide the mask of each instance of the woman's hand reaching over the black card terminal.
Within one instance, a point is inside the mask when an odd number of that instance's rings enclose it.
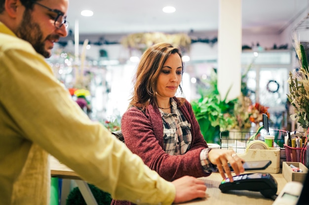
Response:
[[[232,166],[235,175],[240,175],[245,171],[242,166],[244,159],[239,157],[232,149],[211,149],[208,152],[208,159],[212,164],[217,166],[221,176],[226,178],[227,174],[231,182],[233,181],[233,177],[229,164]]]

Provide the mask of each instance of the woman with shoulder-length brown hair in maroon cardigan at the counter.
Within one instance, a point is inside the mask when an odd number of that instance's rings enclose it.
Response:
[[[184,63],[179,49],[169,43],[148,48],[137,67],[128,110],[121,119],[125,144],[164,179],[209,176],[219,170],[232,179],[244,172],[242,158],[233,150],[211,149],[203,139],[191,104],[176,97]],[[113,201],[112,204],[124,202]]]

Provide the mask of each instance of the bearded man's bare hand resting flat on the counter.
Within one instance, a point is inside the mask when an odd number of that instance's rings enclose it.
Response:
[[[206,185],[204,182],[193,176],[183,176],[172,181],[172,183],[176,187],[175,204],[196,198],[204,198],[206,195]]]

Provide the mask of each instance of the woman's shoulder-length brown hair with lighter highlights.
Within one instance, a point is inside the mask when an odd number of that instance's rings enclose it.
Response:
[[[173,47],[169,43],[157,43],[149,47],[141,57],[140,63],[137,66],[135,74],[135,86],[133,96],[131,98],[129,107],[136,106],[141,109],[151,103],[156,104],[156,82],[161,72],[165,61],[171,54],[178,54],[182,58],[181,52],[178,48]],[[184,62],[182,61],[182,73],[184,72]],[[183,91],[179,85],[181,94]]]

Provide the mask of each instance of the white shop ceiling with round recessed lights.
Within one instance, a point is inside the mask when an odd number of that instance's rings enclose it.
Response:
[[[166,14],[163,6],[176,12]],[[309,0],[242,0],[243,29],[259,34],[279,34],[308,9]],[[80,12],[89,9],[92,17]],[[189,32],[218,29],[219,0],[71,0],[67,20],[79,34],[133,32]]]

